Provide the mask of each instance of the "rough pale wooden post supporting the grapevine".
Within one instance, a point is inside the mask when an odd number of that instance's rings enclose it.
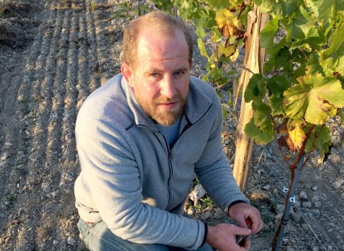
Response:
[[[253,10],[248,13],[248,25],[246,31],[245,59],[244,68],[239,80],[239,88],[244,91],[253,74],[259,74],[263,70],[265,58],[265,49],[260,47],[259,34],[260,30],[265,28],[268,23],[269,15],[260,13],[259,8],[255,5]],[[238,94],[236,93],[236,96]],[[241,191],[245,188],[248,177],[248,168],[251,163],[251,153],[253,149],[253,139],[246,136],[244,126],[250,122],[253,117],[252,102],[246,103],[241,100],[241,110],[239,124],[236,128],[236,151],[234,156],[233,174],[236,183]],[[235,105],[234,105],[235,106]]]

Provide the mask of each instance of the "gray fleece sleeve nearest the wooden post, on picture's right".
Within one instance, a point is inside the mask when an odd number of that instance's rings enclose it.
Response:
[[[229,160],[224,155],[221,139],[222,107],[219,98],[214,102],[214,110],[217,117],[213,121],[205,150],[195,165],[195,173],[207,194],[228,214],[229,204],[237,200],[249,203],[249,200],[241,193],[229,167]]]

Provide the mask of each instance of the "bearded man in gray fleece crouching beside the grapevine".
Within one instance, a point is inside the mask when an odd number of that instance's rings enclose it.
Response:
[[[190,77],[192,40],[176,18],[132,21],[122,74],[92,93],[76,121],[81,173],[76,207],[91,250],[248,250],[235,235],[263,223],[222,151],[222,109],[213,88]],[[239,226],[183,215],[193,176]],[[251,229],[248,229],[251,228]],[[178,249],[179,248],[179,249]]]

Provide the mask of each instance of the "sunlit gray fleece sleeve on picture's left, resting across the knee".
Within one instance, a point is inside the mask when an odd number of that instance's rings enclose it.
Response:
[[[100,119],[78,117],[81,175],[76,181],[76,200],[87,199],[108,228],[124,240],[197,249],[204,223],[142,203],[137,163],[123,134],[124,130],[115,132]]]

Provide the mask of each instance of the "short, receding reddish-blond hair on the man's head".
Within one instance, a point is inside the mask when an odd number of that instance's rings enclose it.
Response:
[[[151,30],[154,34],[173,39],[176,30],[181,30],[188,44],[189,62],[193,57],[193,39],[185,23],[163,11],[152,11],[144,16],[134,19],[125,28],[123,35],[123,61],[129,66],[134,66],[137,58],[137,45],[140,33],[143,30]]]

